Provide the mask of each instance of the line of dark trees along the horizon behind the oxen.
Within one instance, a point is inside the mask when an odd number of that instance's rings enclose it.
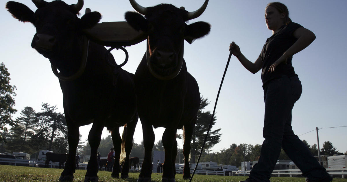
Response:
[[[68,153],[67,126],[64,113],[57,112],[56,106],[48,103],[42,103],[41,112],[36,112],[32,107],[25,107],[19,117],[12,119],[12,115],[17,112],[14,109],[16,96],[16,87],[9,84],[10,73],[5,64],[0,64],[0,153],[7,151],[26,152],[33,156],[39,150],[52,150],[55,153]],[[207,98],[200,98],[200,108],[197,113],[197,121],[193,132],[191,143],[191,163],[195,163],[195,158],[200,154],[201,147],[205,135],[211,122],[212,114],[210,111],[204,111],[209,104]],[[212,127],[215,124],[216,116],[212,119]],[[219,152],[211,152],[212,147],[220,141],[221,133],[219,129],[209,132],[201,162],[217,162],[218,164],[240,166],[242,161],[257,161],[261,152],[261,145],[255,146],[250,144],[231,144],[229,148],[223,148]],[[81,141],[82,136],[79,135],[79,143],[77,152],[89,155],[90,146],[88,140]],[[178,139],[182,139],[181,135],[177,135]],[[312,146],[303,140],[313,155],[318,155],[317,145]],[[101,156],[107,156],[110,148],[113,148],[111,136],[102,138],[98,151]],[[159,140],[153,146],[153,150],[164,151],[162,140]],[[144,157],[143,141],[137,144],[133,140],[133,149],[130,157]],[[343,155],[332,145],[330,141],[323,143],[321,155]],[[347,155],[347,151],[345,153]],[[289,159],[285,152],[281,151],[279,159]],[[176,163],[183,163],[183,149],[178,148]]]

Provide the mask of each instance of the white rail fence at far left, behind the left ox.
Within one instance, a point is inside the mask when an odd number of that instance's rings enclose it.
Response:
[[[45,163],[43,161],[11,159],[11,158],[1,158],[1,157],[0,157],[0,164],[14,165],[14,166],[32,166],[32,167],[45,166]],[[64,163],[64,165],[65,165],[65,163]],[[56,163],[50,162],[48,164],[49,168],[54,168],[54,166],[59,167],[59,163],[58,162],[56,162]],[[79,163],[78,168],[86,170],[87,164]]]

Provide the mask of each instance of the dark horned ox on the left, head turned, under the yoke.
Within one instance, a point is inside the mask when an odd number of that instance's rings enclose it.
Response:
[[[83,0],[78,0],[76,5],[67,5],[63,1],[32,1],[37,7],[35,12],[22,3],[13,1],[9,1],[6,8],[18,20],[30,22],[35,26],[36,34],[31,46],[49,59],[54,74],[59,78],[64,96],[69,144],[68,159],[59,180],[73,180],[79,127],[91,123],[93,125],[88,135],[91,156],[85,181],[98,181],[96,152],[104,127],[111,132],[115,153],[118,156],[114,163],[117,167],[113,167],[111,175],[119,177],[119,156],[121,151],[125,151],[125,160],[129,159],[138,120],[134,75],[118,66],[110,66],[105,61],[107,49],[88,41],[84,36],[83,30],[96,25],[101,19],[101,14],[95,11],[88,12],[78,18],[79,10],[84,4]],[[108,57],[115,65],[112,55],[109,54]],[[121,138],[119,127],[122,126],[124,132]],[[128,177],[126,172],[123,171],[121,177]]]

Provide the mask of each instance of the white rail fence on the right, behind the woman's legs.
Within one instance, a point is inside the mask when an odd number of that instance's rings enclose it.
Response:
[[[347,176],[347,168],[325,168],[327,172],[332,176],[341,176],[345,178]],[[232,171],[232,175],[236,176],[248,176],[251,171]],[[280,176],[301,176],[301,171],[299,169],[289,169],[289,170],[273,170],[272,175]]]

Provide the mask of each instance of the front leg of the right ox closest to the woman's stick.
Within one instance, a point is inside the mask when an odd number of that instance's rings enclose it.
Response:
[[[163,177],[162,182],[175,182],[175,172],[173,168],[175,163],[172,164],[176,159],[177,155],[177,141],[176,141],[176,127],[167,127],[163,133],[163,147],[165,149],[165,160],[163,165]],[[175,157],[172,151],[176,149]]]

